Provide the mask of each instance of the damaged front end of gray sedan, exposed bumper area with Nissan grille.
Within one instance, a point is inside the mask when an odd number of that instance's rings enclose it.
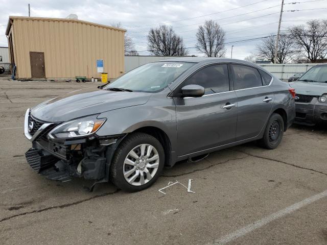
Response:
[[[34,118],[30,110],[26,112],[25,136],[32,141],[25,154],[29,165],[51,180],[66,182],[78,177],[107,182],[113,153],[124,135],[53,139],[48,133],[58,125]]]

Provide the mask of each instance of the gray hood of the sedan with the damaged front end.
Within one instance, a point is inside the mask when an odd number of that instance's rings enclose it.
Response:
[[[147,103],[151,93],[79,89],[45,101],[31,110],[33,117],[49,122],[102,113]]]

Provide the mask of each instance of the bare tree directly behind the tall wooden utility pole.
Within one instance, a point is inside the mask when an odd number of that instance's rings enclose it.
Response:
[[[271,35],[257,45],[256,49],[258,50],[258,58],[269,60],[274,63],[275,41],[275,36]],[[292,37],[289,34],[281,34],[278,42],[277,63],[288,63],[294,58],[295,54],[296,50]]]

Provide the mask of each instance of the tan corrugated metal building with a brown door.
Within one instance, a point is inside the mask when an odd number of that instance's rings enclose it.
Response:
[[[125,32],[78,19],[9,16],[6,35],[18,79],[99,78],[97,60],[116,78],[124,73]]]

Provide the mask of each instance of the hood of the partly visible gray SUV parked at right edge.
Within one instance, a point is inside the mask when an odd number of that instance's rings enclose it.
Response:
[[[289,85],[295,88],[295,93],[321,96],[323,93],[327,93],[327,83],[317,82],[291,82]]]

